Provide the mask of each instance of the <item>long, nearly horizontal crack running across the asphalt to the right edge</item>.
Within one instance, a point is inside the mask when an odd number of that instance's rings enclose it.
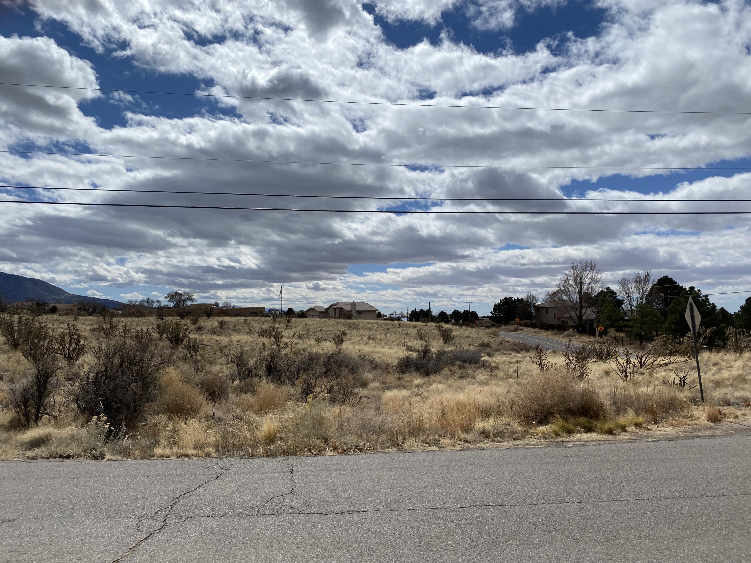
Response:
[[[288,493],[289,494],[289,493]],[[419,512],[432,510],[469,510],[472,508],[514,508],[514,507],[536,507],[536,506],[562,506],[566,504],[608,504],[612,502],[638,502],[638,501],[674,501],[674,500],[695,500],[700,498],[726,498],[726,497],[748,497],[751,493],[727,493],[720,495],[695,495],[695,496],[667,496],[667,497],[636,497],[636,498],[608,498],[596,501],[557,501],[557,502],[520,502],[520,503],[478,503],[463,504],[458,506],[436,506],[436,507],[406,507],[406,508],[366,508],[363,510],[336,510],[336,511],[318,511],[318,512],[273,512],[273,513],[240,513],[240,514],[205,514],[199,516],[186,516],[181,522],[191,519],[210,519],[210,518],[253,518],[264,516],[348,516],[351,514],[368,514],[368,513],[397,513],[397,512]],[[272,497],[274,498],[274,497]]]

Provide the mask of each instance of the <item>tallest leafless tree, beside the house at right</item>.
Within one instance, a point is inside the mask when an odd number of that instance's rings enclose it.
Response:
[[[571,268],[558,280],[555,291],[547,294],[546,300],[553,302],[559,311],[566,312],[581,330],[587,309],[601,289],[602,272],[597,267],[596,260],[582,260],[572,263]]]

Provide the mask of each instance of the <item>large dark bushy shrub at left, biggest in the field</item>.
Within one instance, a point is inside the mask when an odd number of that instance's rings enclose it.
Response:
[[[126,338],[107,339],[92,351],[93,363],[77,369],[70,384],[80,414],[105,414],[114,427],[131,428],[152,400],[158,375],[168,358],[151,335],[139,330]]]

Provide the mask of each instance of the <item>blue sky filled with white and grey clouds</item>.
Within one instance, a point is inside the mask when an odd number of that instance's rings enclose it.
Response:
[[[0,86],[0,182],[53,188],[3,200],[337,210],[0,203],[0,271],[73,293],[487,313],[593,259],[751,295],[751,203],[669,201],[751,194],[749,2],[0,0],[0,77],[75,87]]]

